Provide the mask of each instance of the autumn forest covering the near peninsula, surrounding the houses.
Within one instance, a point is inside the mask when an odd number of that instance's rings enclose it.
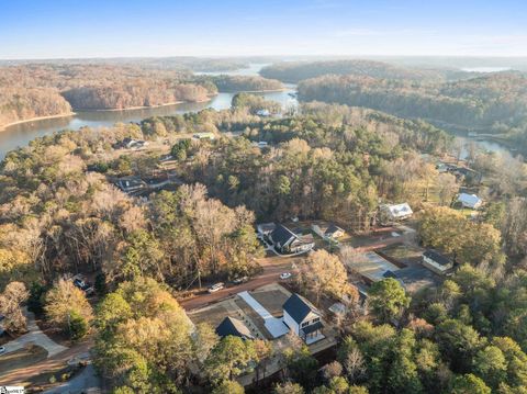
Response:
[[[265,371],[270,357],[283,372],[265,390],[278,394],[524,392],[525,164],[473,153],[489,199],[500,196],[473,222],[450,207],[458,180],[426,160],[452,148],[441,130],[321,102],[261,117],[254,109],[272,103],[260,100],[242,93],[231,110],[65,131],[9,153],[0,165],[0,307],[10,331],[23,330],[27,304],[71,340],[92,333],[96,365],[114,393],[243,393],[235,378],[250,365]],[[197,132],[217,137],[191,139]],[[126,137],[162,148],[115,149]],[[255,146],[262,140],[269,146]],[[112,184],[153,176],[167,154],[182,185],[145,204]],[[431,190],[440,198],[434,204]],[[300,289],[355,294],[334,322],[337,354],[326,364],[294,338],[272,354],[265,340],[220,339],[208,325],[191,334],[178,297],[197,278],[257,273],[258,221],[323,218],[367,232],[379,201],[419,211],[422,244],[455,255],[457,272],[413,296],[382,280],[365,309],[344,266],[354,251],[310,255]],[[97,305],[63,279],[67,272],[96,278]]]

